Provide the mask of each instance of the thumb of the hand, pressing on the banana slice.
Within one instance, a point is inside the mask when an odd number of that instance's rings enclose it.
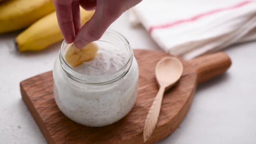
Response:
[[[82,48],[88,43],[99,40],[110,24],[120,15],[121,12],[118,9],[110,9],[108,6],[98,3],[92,18],[77,33],[74,40],[75,46]]]

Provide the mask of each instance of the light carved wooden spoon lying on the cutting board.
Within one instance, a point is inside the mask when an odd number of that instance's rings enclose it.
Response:
[[[155,68],[155,75],[160,88],[145,120],[143,131],[144,142],[149,139],[155,129],[164,92],[170,89],[180,79],[182,72],[183,65],[181,61],[175,57],[165,57],[158,61]]]

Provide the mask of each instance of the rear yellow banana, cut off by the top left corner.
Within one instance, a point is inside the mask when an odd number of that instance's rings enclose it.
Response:
[[[53,11],[53,0],[4,1],[0,5],[0,34],[26,28]]]

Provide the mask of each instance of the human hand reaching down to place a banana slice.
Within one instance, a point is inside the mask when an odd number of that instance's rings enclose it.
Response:
[[[141,0],[54,0],[61,33],[67,43],[77,48],[99,40],[107,28],[123,12]],[[95,10],[93,17],[81,27],[80,7]]]

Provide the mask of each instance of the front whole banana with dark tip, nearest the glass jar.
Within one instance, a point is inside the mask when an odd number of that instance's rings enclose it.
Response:
[[[94,11],[80,8],[81,24],[85,24],[93,16]],[[56,12],[50,13],[36,21],[16,37],[19,51],[40,51],[63,40],[59,29]]]

